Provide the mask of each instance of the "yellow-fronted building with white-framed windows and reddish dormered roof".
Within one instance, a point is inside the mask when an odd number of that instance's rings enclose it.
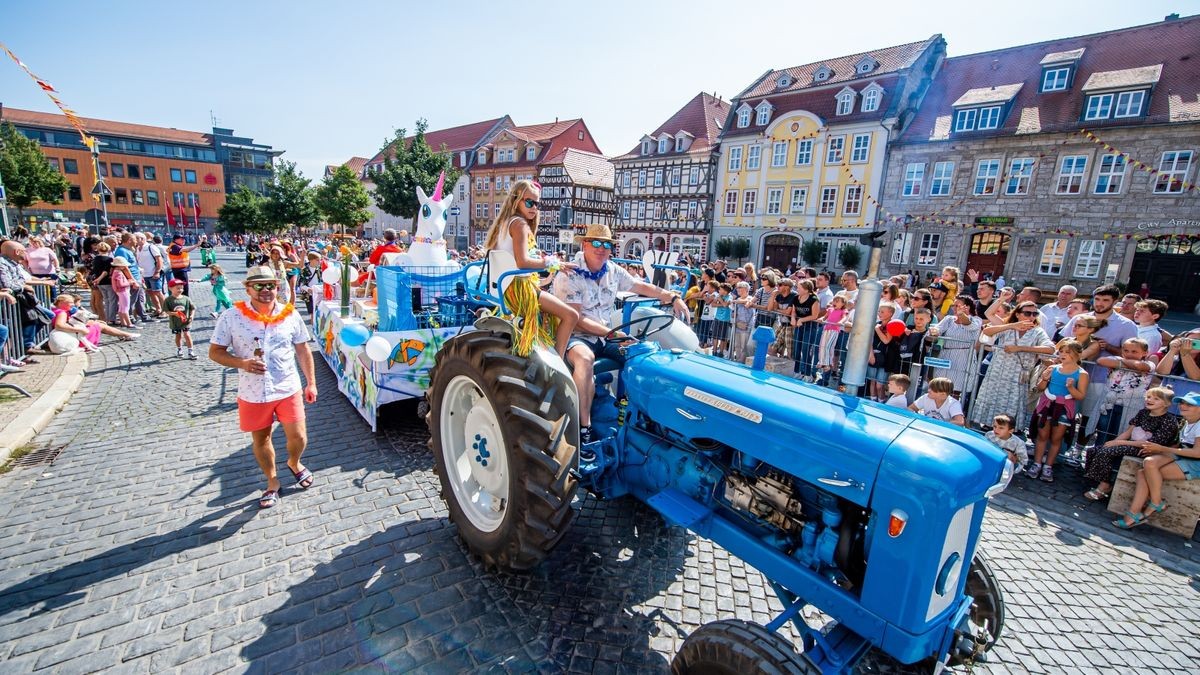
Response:
[[[768,71],[739,94],[720,137],[714,247],[746,239],[749,259],[799,265],[805,241],[824,244],[816,268],[841,268],[877,217],[888,143],[912,119],[946,54],[922,42]],[[865,267],[865,253],[860,268]]]

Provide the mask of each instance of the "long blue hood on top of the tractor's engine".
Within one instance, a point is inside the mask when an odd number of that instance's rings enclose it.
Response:
[[[638,356],[622,376],[631,412],[863,507],[878,480],[902,480],[922,501],[971,503],[1004,466],[997,448],[965,429],[703,354]]]

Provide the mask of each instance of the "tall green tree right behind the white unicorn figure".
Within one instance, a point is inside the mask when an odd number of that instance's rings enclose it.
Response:
[[[416,186],[426,195],[432,195],[438,181],[438,174],[446,173],[445,189],[451,190],[462,174],[454,168],[454,157],[445,145],[434,151],[425,141],[428,123],[416,120],[416,135],[412,141],[406,138],[407,131],[396,130],[395,138],[384,143],[383,169],[372,171],[368,177],[374,183],[371,196],[384,213],[400,217],[416,217],[420,202],[416,199]]]

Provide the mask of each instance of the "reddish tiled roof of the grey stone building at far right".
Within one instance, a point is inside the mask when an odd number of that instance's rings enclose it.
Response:
[[[1064,91],[1042,94],[1042,62],[1048,54],[1082,49]],[[1082,121],[1085,83],[1096,73],[1162,65],[1144,118]],[[1116,77],[1116,76],[1112,76]],[[1104,79],[1100,77],[1098,79]],[[1024,83],[1000,129],[955,137],[1061,132],[1080,127],[1162,123],[1200,123],[1200,16],[1147,25],[1024,44],[947,59],[912,124],[899,142],[944,141],[950,137],[953,102],[967,90]]]

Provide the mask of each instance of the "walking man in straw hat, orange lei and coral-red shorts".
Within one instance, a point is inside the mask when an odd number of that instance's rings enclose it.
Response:
[[[275,473],[271,429],[278,419],[288,440],[288,468],[301,490],[312,486],[313,476],[302,464],[308,443],[305,404],[317,401],[317,380],[308,328],[290,304],[278,301],[280,280],[271,268],[252,267],[246,274],[250,303],[236,303],[221,313],[212,329],[209,358],[238,369],[238,418],[253,442],[254,459],[266,476],[266,490],[259,508],[271,508],[280,496]],[[301,389],[296,363],[307,386]]]

